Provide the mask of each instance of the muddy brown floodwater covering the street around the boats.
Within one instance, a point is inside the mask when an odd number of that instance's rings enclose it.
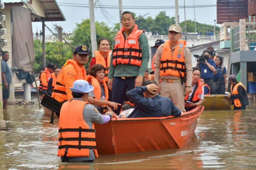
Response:
[[[33,105],[8,105],[0,131],[0,169],[256,169],[256,104],[244,111],[204,111],[184,148],[99,155],[94,163],[62,163],[58,120]],[[160,132],[159,132],[160,133]]]

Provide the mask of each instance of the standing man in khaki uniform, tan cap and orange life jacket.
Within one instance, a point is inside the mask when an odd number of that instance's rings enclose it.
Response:
[[[181,32],[180,26],[169,27],[169,40],[156,51],[154,79],[161,96],[169,97],[182,112],[185,112],[184,95],[191,92],[192,61],[186,41],[180,40]]]

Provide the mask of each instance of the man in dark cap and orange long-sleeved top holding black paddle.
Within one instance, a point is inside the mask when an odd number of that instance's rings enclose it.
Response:
[[[69,59],[61,68],[52,97],[64,103],[72,98],[70,87],[75,80],[85,80],[84,65],[89,60],[89,48],[85,45],[77,46],[73,51],[73,59]]]

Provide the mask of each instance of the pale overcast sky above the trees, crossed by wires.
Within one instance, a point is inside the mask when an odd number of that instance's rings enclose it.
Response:
[[[96,2],[97,0],[94,0]],[[193,6],[193,0],[179,0],[179,6]],[[57,0],[59,7],[61,8],[62,13],[64,14],[66,21],[52,21],[52,22],[45,22],[46,25],[54,30],[53,24],[57,24],[63,28],[63,31],[72,32],[76,27],[75,23],[82,22],[82,19],[89,18],[89,8],[88,7],[75,7],[75,6],[88,6],[88,0]],[[159,2],[159,3],[158,3]],[[72,3],[72,4],[67,4]],[[109,27],[113,27],[114,23],[119,22],[119,12],[118,12],[118,0],[98,0],[96,5],[99,6],[101,3],[104,7],[110,7],[106,5],[115,5],[117,9],[113,8],[105,8],[104,13],[108,18],[106,19],[102,13],[100,8],[94,8],[95,12],[95,21],[105,22],[108,24]],[[196,18],[197,22],[211,24],[214,25],[214,19],[216,20],[216,0],[194,0],[195,6],[198,5],[214,5],[211,7],[196,7],[195,8],[195,15],[194,15],[194,8],[186,8],[186,20],[194,20]],[[70,6],[63,6],[63,5],[70,5]],[[134,7],[142,7],[147,6],[151,9],[131,9],[126,6]],[[161,11],[166,11],[166,15],[170,17],[175,16],[175,9],[174,8],[165,8],[165,7],[173,7],[175,6],[175,0],[123,0],[123,11],[131,11],[139,15],[145,15],[147,18],[151,16],[155,18],[156,15],[159,14]],[[160,8],[160,9],[159,9]],[[179,16],[180,22],[185,20],[184,8],[179,8]],[[196,16],[196,17],[195,17]],[[219,25],[217,25],[219,26]],[[42,30],[42,24],[40,22],[32,22],[33,33],[37,30]],[[51,35],[51,33],[46,29],[46,35]]]

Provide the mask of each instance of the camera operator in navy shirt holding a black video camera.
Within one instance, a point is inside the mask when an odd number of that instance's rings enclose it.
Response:
[[[211,89],[211,95],[216,95],[215,85],[213,84],[213,72],[216,70],[216,64],[214,60],[209,58],[209,51],[204,50],[204,55],[208,55],[204,57],[204,61],[202,57],[197,58],[197,67],[201,70],[201,78],[204,79],[204,83],[207,83]],[[201,59],[201,60],[200,60]]]

